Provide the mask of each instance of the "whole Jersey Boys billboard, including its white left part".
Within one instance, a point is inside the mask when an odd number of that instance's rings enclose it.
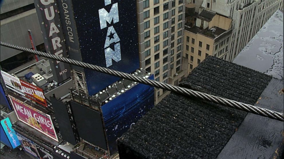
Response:
[[[1,74],[7,88],[31,99],[39,105],[47,107],[44,92],[41,88],[20,80],[19,78],[14,77],[4,71],[1,71]]]

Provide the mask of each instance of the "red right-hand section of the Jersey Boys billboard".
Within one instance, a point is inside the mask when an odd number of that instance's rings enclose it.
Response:
[[[40,105],[47,107],[46,99],[44,97],[44,92],[41,88],[36,87],[25,81],[22,81],[21,79],[20,79],[20,82],[22,86],[21,91],[26,95],[27,98],[35,101],[36,103]]]

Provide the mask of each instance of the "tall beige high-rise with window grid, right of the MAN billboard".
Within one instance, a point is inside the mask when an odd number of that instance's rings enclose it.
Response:
[[[156,81],[177,85],[187,76],[183,58],[185,0],[137,0],[140,66]],[[155,90],[155,103],[169,94]]]

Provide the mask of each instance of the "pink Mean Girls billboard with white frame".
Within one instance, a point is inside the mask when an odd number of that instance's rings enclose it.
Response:
[[[16,115],[20,121],[58,141],[50,115],[39,111],[9,95]]]

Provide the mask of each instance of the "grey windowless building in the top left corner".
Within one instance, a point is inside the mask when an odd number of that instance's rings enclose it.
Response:
[[[33,0],[3,1],[0,13],[1,41],[32,48],[28,33],[28,30],[31,30],[34,45],[38,50],[44,50],[44,40]],[[1,68],[5,71],[10,71],[35,59],[33,54],[27,52],[4,46],[0,46],[0,48]]]

